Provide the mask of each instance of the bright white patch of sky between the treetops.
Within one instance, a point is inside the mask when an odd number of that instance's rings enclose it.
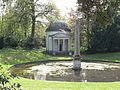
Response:
[[[52,0],[60,9],[61,15],[64,16],[70,11],[70,8],[75,8],[77,0]]]

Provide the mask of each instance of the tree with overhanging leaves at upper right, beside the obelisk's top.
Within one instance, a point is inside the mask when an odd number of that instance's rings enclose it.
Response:
[[[114,21],[114,12],[118,13],[119,0],[78,0],[78,12],[86,19],[86,34],[88,48],[90,48],[90,34],[93,22],[96,22],[103,30]]]

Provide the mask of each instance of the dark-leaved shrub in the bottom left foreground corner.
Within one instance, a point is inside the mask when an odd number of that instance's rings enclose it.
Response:
[[[11,83],[11,80],[14,79],[16,76],[2,71],[3,67],[0,65],[0,90],[17,90],[20,88],[19,83]]]

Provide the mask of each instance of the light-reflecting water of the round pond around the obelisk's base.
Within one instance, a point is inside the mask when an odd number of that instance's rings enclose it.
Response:
[[[10,72],[35,80],[73,82],[120,81],[120,63],[82,62],[81,70],[73,70],[72,67],[72,61],[21,64],[10,68]]]

